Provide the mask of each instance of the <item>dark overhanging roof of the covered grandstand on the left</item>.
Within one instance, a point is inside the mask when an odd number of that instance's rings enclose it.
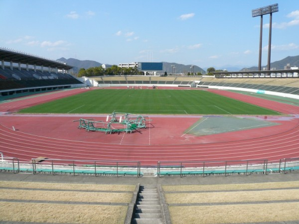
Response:
[[[60,61],[39,57],[37,55],[27,54],[25,52],[13,51],[11,49],[1,48],[1,47],[0,47],[0,60],[4,60],[8,62],[12,61],[13,63],[45,66],[45,67],[65,69],[65,70],[69,70],[73,68],[73,66],[66,65]]]

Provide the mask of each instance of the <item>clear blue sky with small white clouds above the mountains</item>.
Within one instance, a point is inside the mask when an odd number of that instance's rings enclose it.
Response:
[[[274,62],[299,55],[299,0],[0,0],[0,46],[104,64],[257,66],[260,17],[251,10],[274,3]],[[269,20],[263,16],[262,65]]]

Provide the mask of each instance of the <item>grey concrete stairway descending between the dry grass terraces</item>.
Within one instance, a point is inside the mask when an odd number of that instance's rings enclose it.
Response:
[[[163,224],[157,188],[140,186],[132,224]]]

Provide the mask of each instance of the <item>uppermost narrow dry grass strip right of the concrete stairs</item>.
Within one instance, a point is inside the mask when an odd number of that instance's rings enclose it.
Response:
[[[253,183],[253,184],[162,186],[164,191],[227,191],[227,190],[275,189],[275,188],[293,188],[293,187],[299,187],[299,181]]]

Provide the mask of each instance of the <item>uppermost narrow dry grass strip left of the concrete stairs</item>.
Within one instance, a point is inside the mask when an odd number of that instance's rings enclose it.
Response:
[[[0,187],[59,189],[59,190],[87,190],[87,191],[134,191],[135,185],[105,185],[105,184],[65,184],[0,181]]]

